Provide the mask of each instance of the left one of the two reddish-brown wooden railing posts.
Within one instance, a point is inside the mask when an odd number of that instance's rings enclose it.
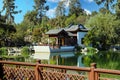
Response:
[[[35,67],[35,78],[36,80],[43,80],[41,75],[41,69],[39,68],[39,64],[41,63],[41,60],[37,60],[37,64]]]

